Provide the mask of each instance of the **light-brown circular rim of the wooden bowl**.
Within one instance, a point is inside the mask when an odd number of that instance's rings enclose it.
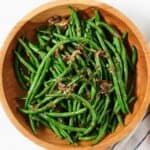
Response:
[[[3,87],[3,63],[4,63],[4,59],[5,59],[5,55],[7,53],[7,49],[9,46],[9,43],[12,41],[12,39],[14,38],[15,34],[19,31],[19,29],[27,22],[29,21],[31,18],[33,18],[34,16],[38,15],[39,13],[46,11],[48,9],[51,9],[53,7],[56,6],[60,6],[60,5],[66,5],[66,4],[85,4],[85,5],[89,5],[89,6],[103,6],[103,8],[107,9],[107,11],[111,11],[111,13],[113,12],[113,15],[117,16],[117,18],[119,18],[120,20],[126,20],[126,24],[128,25],[128,27],[137,35],[137,38],[139,39],[139,41],[141,43],[143,43],[142,48],[144,51],[144,56],[146,58],[146,68],[148,68],[148,65],[150,65],[150,61],[149,61],[149,57],[150,57],[150,53],[148,52],[148,45],[145,42],[144,37],[142,36],[142,34],[140,33],[140,31],[138,30],[138,28],[126,17],[122,14],[122,12],[120,12],[119,10],[117,10],[116,8],[103,3],[103,2],[96,2],[96,1],[90,1],[90,0],[63,0],[63,1],[53,1],[53,2],[48,2],[45,3],[35,9],[33,9],[31,12],[29,12],[25,17],[23,17],[21,19],[21,21],[19,21],[14,28],[11,30],[11,32],[8,34],[8,36],[6,37],[6,40],[4,41],[4,44],[2,46],[1,52],[0,52],[0,82],[1,82],[1,86],[0,86],[0,98],[1,98],[1,103],[3,106],[3,110],[6,112],[8,118],[10,119],[10,121],[14,124],[14,126],[28,139],[30,139],[32,142],[38,144],[39,146],[43,146],[45,148],[49,148],[49,149],[62,149],[62,150],[71,150],[71,149],[76,149],[76,150],[91,150],[95,149],[105,149],[106,147],[110,147],[113,144],[119,142],[120,140],[122,140],[124,137],[126,137],[137,125],[137,123],[142,119],[142,117],[144,116],[147,107],[150,103],[150,96],[148,94],[148,91],[150,91],[150,69],[147,69],[147,74],[148,74],[148,82],[147,82],[147,86],[146,86],[146,92],[145,92],[145,97],[143,99],[143,103],[140,106],[139,113],[135,115],[135,117],[133,118],[132,122],[130,124],[128,124],[119,134],[115,135],[114,137],[111,138],[111,140],[109,141],[105,141],[105,143],[98,143],[97,145],[94,146],[82,146],[82,147],[71,147],[71,146],[60,146],[60,145],[54,145],[52,143],[47,143],[46,141],[43,141],[41,139],[39,139],[38,137],[34,136],[33,134],[31,134],[30,132],[28,132],[20,123],[19,121],[15,118],[15,116],[13,115],[11,109],[9,108],[9,105],[7,103],[6,100],[6,96],[5,96],[5,92],[4,92],[4,87]],[[140,117],[139,117],[140,116]]]

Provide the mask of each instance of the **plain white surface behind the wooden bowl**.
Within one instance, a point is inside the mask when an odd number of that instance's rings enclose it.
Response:
[[[101,0],[111,4],[128,16],[150,41],[150,1],[149,0]],[[1,0],[0,3],[0,47],[12,27],[33,8],[48,0]],[[1,150],[41,150],[25,138],[7,119],[0,106],[0,149]],[[142,149],[142,150],[148,150]]]

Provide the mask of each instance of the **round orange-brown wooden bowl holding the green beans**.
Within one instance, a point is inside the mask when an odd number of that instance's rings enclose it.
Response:
[[[90,145],[90,142],[81,143],[79,146],[69,145],[65,140],[60,140],[49,129],[41,129],[37,136],[33,135],[25,118],[17,111],[16,98],[24,92],[20,89],[13,69],[13,50],[17,39],[21,35],[28,38],[34,36],[34,29],[45,23],[50,16],[67,15],[68,6],[72,5],[81,10],[89,7],[97,7],[104,19],[120,31],[129,33],[129,42],[138,49],[138,62],[136,66],[136,89],[137,101],[133,106],[132,113],[125,118],[125,126],[118,126],[117,130],[106,136],[99,144]],[[25,16],[8,35],[1,51],[0,58],[0,97],[4,110],[12,123],[31,141],[51,150],[100,150],[106,149],[127,136],[142,119],[150,100],[150,62],[148,60],[148,46],[143,36],[131,21],[118,10],[90,0],[63,0],[45,4]],[[149,68],[148,68],[149,67]]]

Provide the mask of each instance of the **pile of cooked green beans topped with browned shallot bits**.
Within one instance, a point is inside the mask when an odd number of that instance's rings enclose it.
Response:
[[[19,110],[34,134],[43,125],[71,144],[97,144],[124,125],[136,99],[137,52],[98,10],[91,18],[82,12],[84,19],[69,10],[69,17],[53,16],[36,29],[35,41],[19,38],[14,66],[26,90]]]

